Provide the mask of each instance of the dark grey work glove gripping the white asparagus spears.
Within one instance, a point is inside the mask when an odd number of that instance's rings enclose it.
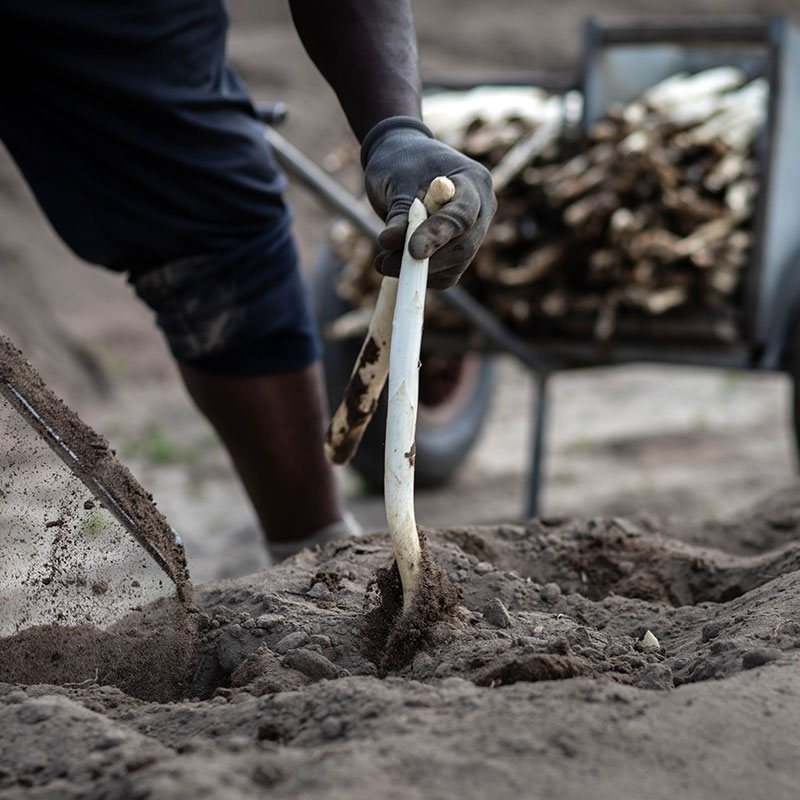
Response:
[[[428,286],[454,286],[478,251],[497,208],[489,171],[463,153],[437,141],[413,117],[379,122],[361,145],[367,197],[386,227],[375,269],[400,274],[408,210],[439,175],[453,181],[455,197],[414,232],[408,249],[414,258],[430,258]]]

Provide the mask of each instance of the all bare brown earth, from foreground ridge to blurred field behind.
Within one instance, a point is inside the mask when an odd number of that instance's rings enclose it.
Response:
[[[286,135],[317,158],[352,148],[284,4],[231,5],[232,57],[258,99],[288,102]],[[653,13],[636,0],[415,11],[425,73],[469,77],[574,71],[587,13]],[[792,0],[660,11],[798,18]],[[327,215],[290,194],[310,264]],[[535,398],[503,360],[477,448],[451,486],[417,497],[460,614],[384,674],[363,619],[386,536],[258,571],[252,512],[148,312],[66,253],[7,158],[0,280],[0,328],[154,493],[199,606],[87,629],[72,647],[7,642],[0,797],[797,797],[800,486],[784,376],[556,376],[545,516],[521,522]],[[342,483],[382,530],[380,498]]]

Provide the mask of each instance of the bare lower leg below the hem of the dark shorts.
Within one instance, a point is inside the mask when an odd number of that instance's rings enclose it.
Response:
[[[303,539],[342,519],[322,441],[322,367],[233,378],[179,365],[186,388],[228,449],[270,542]]]

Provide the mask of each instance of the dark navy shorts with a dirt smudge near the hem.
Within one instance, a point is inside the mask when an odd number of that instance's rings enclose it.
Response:
[[[177,359],[291,371],[318,344],[227,22],[221,0],[0,0],[0,138],[75,253],[127,273]]]

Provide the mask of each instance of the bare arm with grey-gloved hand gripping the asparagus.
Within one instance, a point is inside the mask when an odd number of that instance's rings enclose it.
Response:
[[[456,194],[416,230],[415,258],[430,258],[428,285],[454,285],[483,241],[496,208],[489,172],[436,141],[421,122],[416,35],[408,0],[290,0],[304,47],[333,87],[361,146],[364,182],[386,222],[375,259],[397,275],[408,209],[437,175]]]

